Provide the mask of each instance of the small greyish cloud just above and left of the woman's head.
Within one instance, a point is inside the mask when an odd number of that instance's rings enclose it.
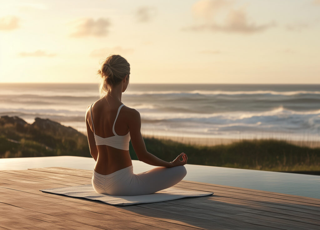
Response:
[[[78,20],[78,26],[76,32],[72,33],[72,37],[83,37],[83,36],[106,36],[108,35],[108,28],[110,21],[105,18],[99,18],[94,20],[92,18],[85,18]]]

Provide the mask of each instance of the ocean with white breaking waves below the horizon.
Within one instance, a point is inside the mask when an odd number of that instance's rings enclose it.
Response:
[[[0,83],[0,115],[48,118],[86,133],[92,83]],[[142,135],[320,140],[320,85],[134,84],[122,102],[141,115]]]

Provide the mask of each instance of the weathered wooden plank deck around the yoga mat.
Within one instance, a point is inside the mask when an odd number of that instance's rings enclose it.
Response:
[[[182,180],[204,197],[113,206],[39,189],[90,184],[92,171],[0,171],[0,229],[320,229],[320,199]]]

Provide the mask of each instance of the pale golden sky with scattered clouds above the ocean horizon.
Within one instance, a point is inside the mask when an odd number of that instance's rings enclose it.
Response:
[[[320,0],[0,0],[0,83],[320,83]]]

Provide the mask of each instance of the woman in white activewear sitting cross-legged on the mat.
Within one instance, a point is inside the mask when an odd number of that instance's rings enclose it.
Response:
[[[85,117],[90,153],[96,161],[94,190],[100,194],[134,196],[177,184],[187,174],[187,155],[181,153],[174,161],[166,162],[149,153],[140,132],[140,113],[121,102],[129,83],[130,64],[120,55],[111,55],[98,74],[102,79],[100,99],[88,106]],[[159,167],[134,174],[130,139],[139,161]]]

